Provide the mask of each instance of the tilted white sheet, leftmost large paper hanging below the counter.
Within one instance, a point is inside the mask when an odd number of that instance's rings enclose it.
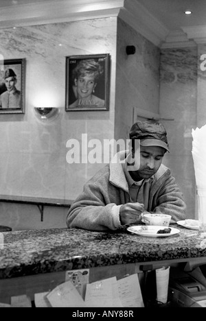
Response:
[[[55,287],[52,292],[49,292],[47,299],[52,307],[86,307],[82,296],[71,281]]]

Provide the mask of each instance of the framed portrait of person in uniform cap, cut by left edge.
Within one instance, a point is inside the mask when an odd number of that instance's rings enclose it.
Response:
[[[0,62],[0,114],[25,113],[25,58]]]

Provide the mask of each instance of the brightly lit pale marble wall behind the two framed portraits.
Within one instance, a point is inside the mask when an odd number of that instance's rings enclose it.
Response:
[[[115,17],[0,30],[4,58],[26,59],[25,115],[0,120],[0,193],[73,199],[82,190],[91,174],[84,164],[67,163],[66,144],[81,142],[85,132],[89,139],[113,138],[116,37]],[[65,112],[65,57],[95,53],[111,55],[109,110]],[[43,123],[35,106],[59,107],[60,113]]]

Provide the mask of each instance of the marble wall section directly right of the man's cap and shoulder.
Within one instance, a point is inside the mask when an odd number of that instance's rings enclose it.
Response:
[[[197,49],[161,51],[160,106],[168,132],[170,154],[165,163],[179,183],[187,204],[187,217],[196,216],[196,191],[192,160],[192,128],[196,128]]]

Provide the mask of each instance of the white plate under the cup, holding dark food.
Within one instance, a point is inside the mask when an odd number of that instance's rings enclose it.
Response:
[[[127,228],[127,230],[130,233],[135,233],[137,235],[146,236],[146,237],[168,237],[174,234],[180,233],[180,230],[178,228],[171,228],[170,233],[162,233],[157,234],[158,230],[163,230],[164,228],[167,228],[165,226],[150,226],[150,225],[137,225],[137,226],[130,226]]]

